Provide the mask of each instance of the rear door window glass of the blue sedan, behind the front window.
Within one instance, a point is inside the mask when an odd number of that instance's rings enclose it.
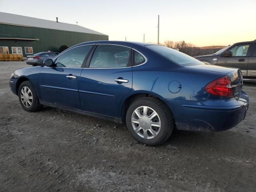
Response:
[[[120,68],[131,66],[131,49],[116,45],[98,45],[89,68]]]

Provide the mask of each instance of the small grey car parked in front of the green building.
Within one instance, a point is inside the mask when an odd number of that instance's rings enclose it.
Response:
[[[32,66],[43,65],[44,60],[52,59],[58,54],[58,52],[40,52],[34,55],[28,55],[26,63]]]

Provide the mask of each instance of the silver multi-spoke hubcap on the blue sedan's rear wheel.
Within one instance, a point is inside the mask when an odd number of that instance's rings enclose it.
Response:
[[[154,109],[140,106],[132,113],[132,127],[140,137],[151,139],[159,134],[161,121]]]

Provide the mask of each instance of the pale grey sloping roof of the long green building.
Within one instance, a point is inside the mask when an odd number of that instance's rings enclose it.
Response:
[[[100,33],[76,24],[62,23],[62,22],[38,19],[34,17],[4,13],[4,12],[0,12],[0,24],[1,23],[18,25],[18,26],[40,27],[40,28],[48,28],[48,29],[56,29],[56,30],[64,30],[64,31],[74,31],[74,32],[106,35],[106,34],[103,34],[103,33]]]

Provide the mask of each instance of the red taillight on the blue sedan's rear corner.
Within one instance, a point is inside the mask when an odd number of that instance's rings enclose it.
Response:
[[[218,78],[208,83],[204,89],[209,94],[215,95],[215,96],[220,96],[220,97],[233,96],[232,86],[228,76],[223,76],[221,78]]]

